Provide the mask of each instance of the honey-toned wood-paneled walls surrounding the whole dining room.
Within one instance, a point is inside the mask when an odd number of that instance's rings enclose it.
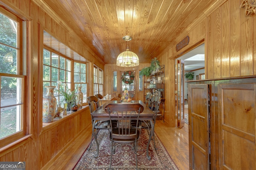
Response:
[[[256,15],[245,17],[244,9],[240,9],[241,0],[223,0],[206,10],[186,31],[176,33],[176,38],[170,43],[170,48],[158,57],[161,64],[165,64],[165,122],[175,126],[175,73],[174,59],[193,49],[199,43],[205,43],[205,71],[206,78],[222,78],[234,76],[255,75],[256,72]],[[49,16],[45,9],[39,8],[31,0],[1,0],[0,5],[29,22],[29,55],[28,72],[30,79],[28,97],[29,133],[32,137],[21,140],[15,145],[0,150],[0,161],[25,161],[27,169],[40,169],[64,147],[71,145],[76,135],[90,125],[90,117],[85,113],[76,113],[70,119],[63,119],[60,123],[42,129],[41,119],[38,117],[41,100],[38,98],[42,90],[40,85],[40,51],[42,51],[42,30],[45,29],[60,42],[64,43],[88,61],[104,70],[104,95],[112,93],[112,71],[130,70],[120,68],[115,64],[102,63],[86,44],[77,37],[71,29],[64,27],[61,21]],[[184,37],[190,37],[189,44],[176,52],[175,47]],[[138,70],[149,63],[141,63],[135,68],[136,78]],[[90,66],[92,69],[92,66]],[[89,70],[91,72],[92,70]],[[119,72],[117,72],[119,74]],[[120,77],[120,75],[119,75]],[[38,81],[39,80],[39,81]],[[89,93],[90,94],[90,93]],[[143,94],[138,94],[142,98]]]

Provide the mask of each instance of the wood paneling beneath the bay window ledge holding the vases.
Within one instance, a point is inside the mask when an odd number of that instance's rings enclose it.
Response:
[[[76,137],[91,126],[91,122],[90,109],[86,107],[54,125],[44,127],[38,137],[39,168],[65,150],[66,146],[72,145]]]

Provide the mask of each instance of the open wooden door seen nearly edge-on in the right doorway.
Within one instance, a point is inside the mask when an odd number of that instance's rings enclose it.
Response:
[[[176,60],[176,127],[182,128],[184,119],[184,61]]]

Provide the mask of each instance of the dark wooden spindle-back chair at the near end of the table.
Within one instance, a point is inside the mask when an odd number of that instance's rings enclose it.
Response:
[[[138,121],[140,113],[144,110],[144,107],[138,103],[131,104],[108,104],[105,107],[105,111],[109,115],[110,119],[110,140],[111,140],[111,157],[110,166],[112,164],[112,154],[114,154],[116,147],[122,144],[130,145],[135,152],[136,157],[136,169],[137,165],[137,150],[138,150],[138,139],[140,131],[138,130]],[[113,120],[118,120],[117,127],[112,126]],[[136,121],[136,126],[131,127],[130,121]]]

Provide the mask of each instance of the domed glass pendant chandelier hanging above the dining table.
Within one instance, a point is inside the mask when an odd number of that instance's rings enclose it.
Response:
[[[132,40],[132,37],[130,35],[126,35],[123,37],[123,40],[127,41],[127,49],[118,55],[116,59],[116,65],[121,67],[138,66],[140,63],[139,57],[128,48],[128,41]]]

